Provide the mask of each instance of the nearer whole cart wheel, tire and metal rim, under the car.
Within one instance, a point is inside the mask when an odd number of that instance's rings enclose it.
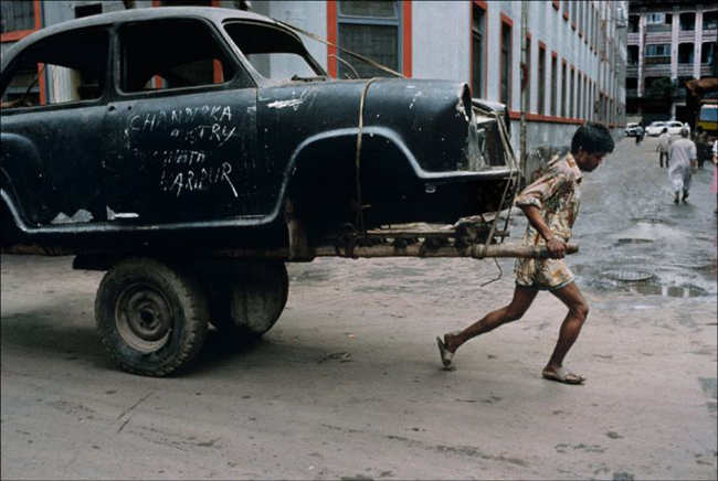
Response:
[[[95,318],[103,346],[123,370],[165,376],[199,352],[209,306],[192,274],[159,260],[130,258],[101,281]]]

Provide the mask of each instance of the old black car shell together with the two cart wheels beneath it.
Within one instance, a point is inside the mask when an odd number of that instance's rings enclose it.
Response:
[[[284,260],[499,211],[517,183],[503,107],[455,82],[331,79],[295,32],[236,10],[54,25],[3,55],[0,88],[3,252],[108,270],[101,338],[139,374],[189,362],[209,320],[266,332]],[[462,254],[478,237],[460,240]]]

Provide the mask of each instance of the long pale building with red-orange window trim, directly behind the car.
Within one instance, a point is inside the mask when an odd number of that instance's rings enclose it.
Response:
[[[527,174],[584,121],[616,133],[625,124],[626,1],[6,0],[0,43],[86,14],[168,4],[249,9],[312,32],[328,44],[305,36],[309,52],[339,78],[386,74],[332,44],[408,77],[465,82],[475,97],[508,105]],[[24,24],[9,20],[15,13]]]

